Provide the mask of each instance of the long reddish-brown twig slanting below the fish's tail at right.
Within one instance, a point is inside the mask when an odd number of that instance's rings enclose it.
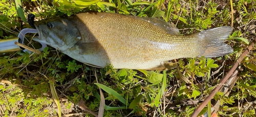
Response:
[[[215,94],[222,88],[223,84],[228,80],[228,78],[233,74],[233,72],[237,69],[245,55],[252,49],[252,47],[256,43],[256,38],[251,42],[251,44],[244,50],[241,56],[238,58],[237,62],[234,63],[232,68],[228,71],[228,73],[224,76],[224,78],[220,81],[220,83],[215,87],[215,89],[209,94],[209,96],[199,105],[199,107],[191,114],[191,117],[196,117],[202,109],[206,106],[206,104],[215,96]]]

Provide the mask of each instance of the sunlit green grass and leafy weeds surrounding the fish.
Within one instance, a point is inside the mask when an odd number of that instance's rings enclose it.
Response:
[[[47,47],[40,55],[24,52],[0,54],[0,116],[57,116],[73,114],[92,116],[76,105],[83,100],[97,113],[100,105],[99,87],[105,97],[104,116],[189,116],[198,104],[187,105],[183,100],[203,100],[255,37],[255,2],[233,1],[233,27],[227,41],[234,52],[226,55],[224,67],[214,76],[209,75],[222,66],[221,58],[181,58],[181,73],[193,81],[186,84],[176,69],[169,71],[144,71],[98,69],[79,63],[67,55]],[[191,34],[208,28],[231,25],[230,1],[23,1],[25,16],[33,13],[36,20],[79,12],[116,12],[141,17],[157,17],[175,24],[181,34]],[[79,5],[77,5],[79,4]],[[13,1],[0,2],[0,39],[16,37],[23,28],[20,9]],[[29,35],[26,45],[38,46]],[[30,42],[30,43],[29,43]],[[32,45],[31,45],[32,44]],[[243,71],[228,97],[217,93],[214,100],[221,100],[219,116],[254,116],[252,103],[256,99],[255,47],[241,63]],[[210,72],[211,71],[211,72]],[[98,83],[96,83],[95,72]],[[44,77],[46,75],[48,78]],[[206,75],[208,74],[208,75]],[[55,86],[60,107],[56,106],[51,89]],[[112,90],[110,90],[112,89]],[[55,101],[54,101],[55,100]],[[179,103],[181,102],[181,103]],[[186,102],[186,101],[185,101]],[[177,105],[172,105],[176,104]],[[163,109],[167,107],[166,109]],[[204,113],[207,107],[202,111]],[[232,115],[231,115],[232,114]]]

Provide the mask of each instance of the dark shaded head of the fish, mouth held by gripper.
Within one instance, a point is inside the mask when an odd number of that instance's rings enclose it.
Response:
[[[81,35],[76,25],[66,18],[57,17],[34,22],[39,36],[33,40],[50,45],[60,51],[72,48]]]

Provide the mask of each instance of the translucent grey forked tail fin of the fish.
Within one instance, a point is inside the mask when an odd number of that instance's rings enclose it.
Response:
[[[223,26],[199,32],[199,42],[203,47],[199,56],[218,57],[232,53],[233,49],[224,43],[232,29],[230,26]]]

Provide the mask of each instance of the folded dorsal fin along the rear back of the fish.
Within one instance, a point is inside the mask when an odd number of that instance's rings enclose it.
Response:
[[[168,34],[180,35],[179,29],[175,25],[170,24],[169,22],[165,22],[164,20],[152,18],[152,17],[138,17],[138,16],[131,16],[131,17],[134,19],[143,20],[153,25],[156,25]]]

